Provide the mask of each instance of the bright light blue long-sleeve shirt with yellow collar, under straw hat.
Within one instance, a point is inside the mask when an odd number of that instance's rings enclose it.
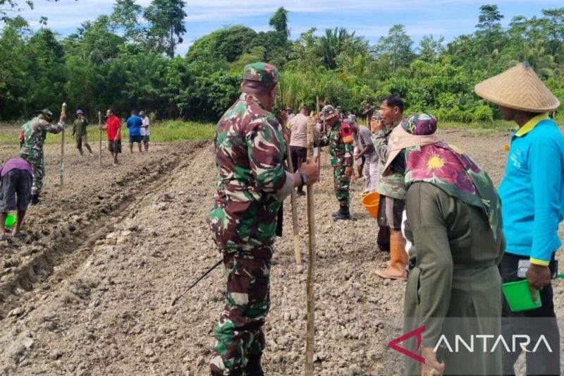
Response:
[[[548,265],[564,219],[564,137],[548,114],[513,134],[499,196],[507,252]]]

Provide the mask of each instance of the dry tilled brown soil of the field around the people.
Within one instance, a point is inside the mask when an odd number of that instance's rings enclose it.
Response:
[[[482,162],[496,183],[509,133],[470,137],[442,131]],[[0,147],[0,159],[15,147]],[[206,375],[212,330],[223,308],[215,269],[170,306],[219,253],[205,224],[214,195],[211,143],[153,145],[123,154],[123,164],[79,159],[68,147],[59,186],[59,147],[47,147],[44,202],[32,207],[25,237],[0,242],[0,370],[10,375]],[[325,156],[325,153],[324,153]],[[374,252],[376,223],[352,190],[352,222],[337,209],[326,159],[316,188],[317,375],[391,375],[386,344],[403,311],[405,282],[374,274],[387,255]],[[305,198],[298,202],[306,259]],[[295,268],[289,201],[276,241],[271,313],[265,325],[268,375],[302,375],[305,272]],[[562,256],[560,262],[564,262]],[[563,264],[564,265],[564,264]],[[555,284],[563,312],[564,284]],[[392,335],[392,337],[390,337]]]

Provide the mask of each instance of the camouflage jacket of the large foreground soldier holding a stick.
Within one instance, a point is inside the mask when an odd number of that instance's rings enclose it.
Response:
[[[215,146],[217,186],[208,224],[217,245],[226,251],[272,245],[276,214],[293,188],[281,125],[243,93],[217,123]]]

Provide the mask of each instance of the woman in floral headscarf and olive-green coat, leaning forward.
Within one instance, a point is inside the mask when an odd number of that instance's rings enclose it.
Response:
[[[470,343],[472,335],[501,333],[497,264],[505,246],[494,184],[470,157],[436,137],[436,123],[429,114],[411,115],[389,138],[386,169],[393,164],[405,173],[405,235],[415,265],[407,278],[404,329],[425,327],[420,343],[405,346],[413,353],[420,346],[425,362],[409,358],[406,373],[498,375],[501,353],[484,353],[482,341],[472,352],[464,346],[458,353],[448,346],[434,352],[446,344],[443,335],[454,349],[455,334]]]

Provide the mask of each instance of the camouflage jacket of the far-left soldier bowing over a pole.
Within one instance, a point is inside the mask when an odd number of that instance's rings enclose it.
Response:
[[[22,126],[20,133],[20,157],[42,159],[43,144],[47,132],[59,133],[63,131],[65,126],[66,124],[62,121],[56,124],[50,124],[37,117],[27,121],[27,123]]]

